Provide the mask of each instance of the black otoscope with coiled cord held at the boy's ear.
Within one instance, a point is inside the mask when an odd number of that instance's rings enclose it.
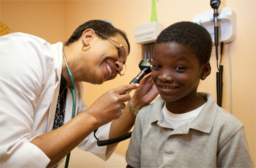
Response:
[[[150,62],[147,62],[147,60],[141,60],[140,64],[139,64],[139,67],[140,67],[140,70],[141,70],[140,73],[137,74],[137,76],[135,78],[133,78],[133,80],[130,81],[130,84],[140,83],[140,80],[142,80],[142,78],[145,75],[147,75],[147,73],[151,72],[151,64],[150,64]],[[129,94],[129,92],[126,92],[126,94]],[[97,137],[95,135],[96,132],[97,132],[97,130],[94,131],[95,139],[97,139]],[[117,142],[120,142],[120,141],[123,141],[123,140],[126,140],[126,139],[130,138],[131,134],[132,134],[132,132],[129,132],[127,134],[124,134],[120,137],[116,137],[114,139],[107,139],[107,140],[97,139],[97,146],[107,146],[107,145],[110,145],[110,144],[115,144]]]

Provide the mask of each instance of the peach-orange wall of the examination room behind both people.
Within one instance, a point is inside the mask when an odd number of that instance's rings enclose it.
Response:
[[[231,43],[232,108],[230,106],[229,45],[224,45],[223,108],[233,111],[245,126],[252,160],[255,163],[256,83],[255,83],[255,0],[222,1],[222,7],[236,12],[236,39]],[[210,0],[159,0],[156,11],[159,22],[166,28],[174,22],[192,20],[194,15],[212,10]],[[90,105],[109,89],[126,85],[140,72],[141,45],[135,44],[134,28],[150,22],[151,0],[84,0],[84,1],[0,1],[0,20],[13,31],[23,31],[45,38],[50,43],[64,42],[81,23],[92,19],[106,19],[128,34],[131,50],[126,75],[103,85],[84,83],[84,102]],[[213,49],[210,59],[212,73],[201,82],[198,91],[216,97],[216,59]],[[133,92],[131,92],[133,94]],[[125,155],[129,140],[116,148]],[[157,143],[157,142],[156,142]],[[76,153],[72,153],[76,157]],[[72,160],[72,158],[71,158]]]

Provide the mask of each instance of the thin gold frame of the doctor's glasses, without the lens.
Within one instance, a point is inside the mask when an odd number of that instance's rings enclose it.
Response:
[[[113,40],[112,38],[109,38],[108,36],[105,36],[104,34],[100,34],[100,33],[96,32],[96,31],[95,31],[95,33],[100,35],[100,36],[103,36],[103,37],[107,38],[107,40],[116,47],[116,49],[117,49],[117,51],[119,53],[119,62],[121,62],[123,64],[123,69],[125,69],[123,73],[121,73],[121,72],[118,72],[118,73],[119,73],[120,76],[123,76],[126,73],[126,59],[125,58],[123,58],[123,59],[121,58],[120,51],[123,49],[126,52],[126,48],[124,48],[124,46],[121,43]],[[125,53],[125,55],[126,55],[126,53]]]

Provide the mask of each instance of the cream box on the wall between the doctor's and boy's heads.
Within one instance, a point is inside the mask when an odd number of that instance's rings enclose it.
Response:
[[[149,22],[135,27],[135,43],[146,44],[156,41],[157,36],[163,30],[163,24],[159,22]]]

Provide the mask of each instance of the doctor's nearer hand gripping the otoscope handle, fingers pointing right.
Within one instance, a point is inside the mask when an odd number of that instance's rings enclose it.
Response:
[[[130,100],[130,95],[124,93],[137,87],[139,84],[129,84],[109,90],[97,98],[85,112],[90,113],[99,125],[105,125],[121,116],[122,110],[126,107],[124,102]]]

